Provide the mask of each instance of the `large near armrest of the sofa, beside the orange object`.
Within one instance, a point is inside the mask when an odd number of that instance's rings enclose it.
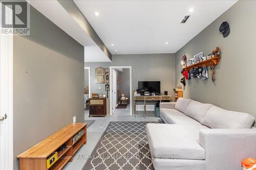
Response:
[[[256,157],[255,129],[201,129],[199,143],[207,170],[241,170],[244,158]]]

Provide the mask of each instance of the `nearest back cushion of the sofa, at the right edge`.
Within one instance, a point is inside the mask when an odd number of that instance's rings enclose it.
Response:
[[[210,128],[251,128],[255,118],[242,112],[235,112],[212,106],[205,114],[202,124]]]

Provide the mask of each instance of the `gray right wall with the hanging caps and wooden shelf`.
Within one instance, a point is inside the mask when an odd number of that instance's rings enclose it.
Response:
[[[216,46],[222,52],[222,59],[215,67],[216,82],[211,81],[210,72],[206,81],[194,78],[186,81],[185,98],[256,116],[255,6],[256,1],[239,1],[175,54],[176,85],[180,85],[183,54],[187,59],[202,51],[207,55]],[[228,21],[230,26],[230,34],[226,38],[219,33],[223,21]]]

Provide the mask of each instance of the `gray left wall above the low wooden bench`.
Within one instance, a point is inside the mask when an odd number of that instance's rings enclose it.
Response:
[[[30,36],[13,42],[15,157],[73,122],[83,122],[84,48],[30,6]]]

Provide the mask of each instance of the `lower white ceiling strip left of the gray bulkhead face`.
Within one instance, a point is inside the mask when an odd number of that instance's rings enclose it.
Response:
[[[50,19],[84,47],[85,62],[110,62],[100,47],[80,27],[76,20],[56,0],[28,1],[35,9]],[[61,16],[61,17],[60,17]]]

